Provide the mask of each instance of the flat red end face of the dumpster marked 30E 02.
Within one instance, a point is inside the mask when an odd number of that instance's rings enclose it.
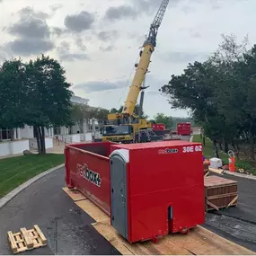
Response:
[[[202,152],[184,153],[183,146],[170,149],[130,150],[128,215],[132,243],[181,232],[205,221]]]

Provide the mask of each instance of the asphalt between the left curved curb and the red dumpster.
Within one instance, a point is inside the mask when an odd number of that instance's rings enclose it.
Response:
[[[77,207],[62,190],[64,168],[34,182],[0,209],[0,254],[12,254],[7,232],[37,224],[48,246],[26,252],[37,255],[119,254],[91,223],[93,218]]]

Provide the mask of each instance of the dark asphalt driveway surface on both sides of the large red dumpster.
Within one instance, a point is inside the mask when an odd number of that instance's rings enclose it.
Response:
[[[187,140],[186,137],[183,138]],[[40,225],[48,247],[26,254],[119,254],[91,225],[93,219],[62,190],[64,168],[34,182],[0,209],[0,254],[11,254],[7,232]],[[238,206],[207,213],[209,230],[256,252],[256,181],[225,175],[238,181]]]

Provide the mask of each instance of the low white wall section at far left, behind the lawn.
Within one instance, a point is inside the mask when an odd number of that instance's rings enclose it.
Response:
[[[0,156],[22,154],[24,150],[29,150],[29,149],[30,149],[30,143],[28,139],[1,142]]]

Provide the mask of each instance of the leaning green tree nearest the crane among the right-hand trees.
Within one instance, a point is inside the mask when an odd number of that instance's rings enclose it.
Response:
[[[204,124],[207,137],[212,138],[216,156],[216,141],[223,137],[223,118],[216,107],[216,68],[210,61],[189,64],[182,75],[172,75],[169,84],[163,85],[162,93],[168,95],[172,109],[190,110],[197,122]]]

